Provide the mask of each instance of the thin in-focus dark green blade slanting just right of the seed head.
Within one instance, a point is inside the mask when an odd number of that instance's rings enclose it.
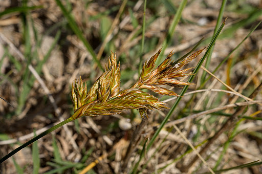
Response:
[[[226,20],[225,20],[226,21]],[[197,67],[195,67],[194,71],[193,71],[193,75],[190,76],[188,82],[192,82],[195,74],[199,71],[200,67],[202,66],[203,61],[205,60],[205,58],[207,57],[211,47],[214,45],[214,42],[216,40],[216,38],[219,36],[220,32],[222,31],[223,27],[225,26],[225,21],[224,23],[221,25],[221,27],[219,28],[219,30],[215,33],[215,36],[213,37],[212,41],[210,42],[204,56],[201,58],[201,60],[199,61]],[[185,92],[188,89],[188,85],[186,85],[182,92],[181,92],[181,96],[183,96],[185,94]],[[163,128],[163,126],[165,125],[165,123],[167,122],[167,120],[169,119],[169,117],[171,116],[171,114],[173,113],[174,109],[177,107],[178,103],[180,102],[182,97],[178,97],[176,102],[173,104],[173,106],[170,108],[168,114],[166,115],[166,117],[164,118],[164,120],[162,121],[162,123],[160,124],[159,128],[157,129],[156,133],[154,134],[154,136],[151,138],[151,140],[148,143],[147,146],[147,150],[152,146],[152,144],[154,143],[154,141],[156,140],[157,136],[160,133],[160,130]]]

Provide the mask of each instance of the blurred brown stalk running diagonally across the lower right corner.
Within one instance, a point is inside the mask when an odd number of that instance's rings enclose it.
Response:
[[[249,98],[254,99],[255,96],[262,90],[262,81],[257,86],[257,88],[253,91],[253,93],[249,96]],[[221,134],[223,134],[226,130],[231,129],[235,126],[235,122],[241,119],[242,117],[238,117],[239,115],[243,115],[245,111],[246,106],[239,106],[236,111],[232,114],[232,116],[222,125],[222,127],[215,133],[213,137],[210,138],[210,140],[207,142],[207,144],[200,150],[199,154],[201,156],[204,156],[205,152],[209,149],[210,145],[217,140]],[[188,168],[192,166],[196,161],[198,160],[198,156],[195,156],[191,162],[188,163],[188,165],[181,167],[181,171],[187,172]]]

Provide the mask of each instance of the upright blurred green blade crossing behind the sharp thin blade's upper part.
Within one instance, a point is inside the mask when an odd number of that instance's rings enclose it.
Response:
[[[222,22],[223,14],[224,14],[224,11],[225,11],[226,4],[227,4],[227,0],[223,0],[223,1],[222,1],[221,8],[220,8],[220,11],[219,11],[219,16],[217,17],[217,20],[216,20],[216,25],[215,25],[213,37],[215,36],[215,33],[216,33],[217,30],[219,29],[219,26],[220,26],[220,24],[221,24],[221,22]],[[205,64],[205,68],[206,68],[206,69],[208,69],[208,67],[209,67],[213,50],[214,50],[214,47],[211,48],[211,50],[210,50],[210,52],[209,52],[209,54],[208,54],[208,56],[207,56],[207,58],[206,58],[206,64]],[[201,83],[204,82],[204,80],[205,80],[205,78],[206,78],[206,74],[207,74],[207,72],[204,71],[203,74],[202,74],[202,77],[201,77]]]

